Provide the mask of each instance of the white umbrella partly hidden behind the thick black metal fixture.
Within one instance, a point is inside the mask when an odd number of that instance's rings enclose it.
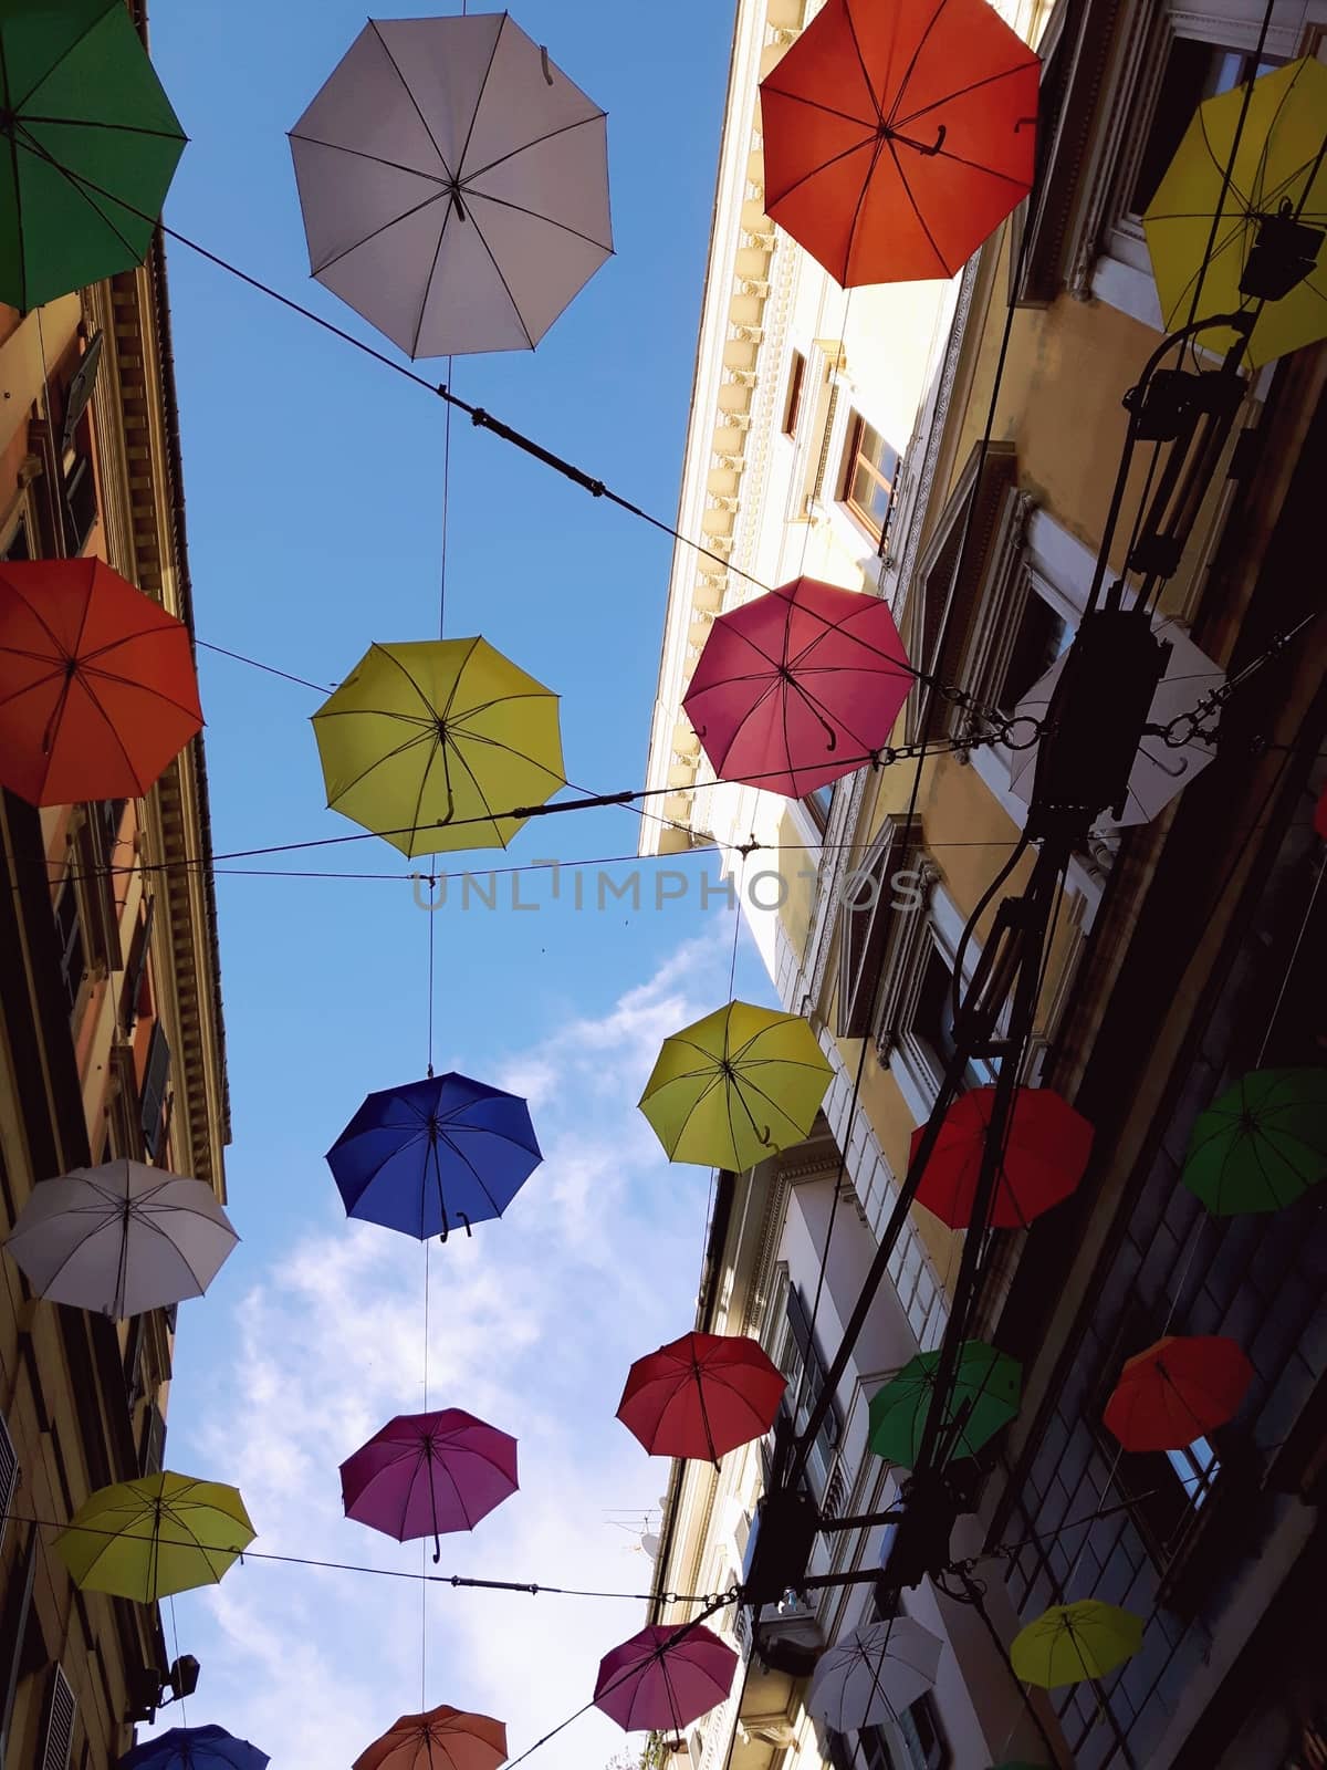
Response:
[[[1147,715],[1150,726],[1168,726],[1184,713],[1193,713],[1205,694],[1224,689],[1226,673],[1212,658],[1200,651],[1178,621],[1162,621],[1155,628],[1155,637],[1170,644],[1171,653],[1166,662],[1166,674],[1157,683],[1152,706]],[[1065,651],[1055,660],[1040,681],[1028,689],[1019,701],[1014,719],[1044,719],[1051,704],[1055,685],[1065,667]],[[1032,786],[1037,773],[1037,752],[1033,743],[1026,750],[1014,752],[1010,788],[1017,796],[1032,804]],[[1101,827],[1124,828],[1129,823],[1150,823],[1196,773],[1200,773],[1216,756],[1210,738],[1200,736],[1191,726],[1173,733],[1173,740],[1147,736],[1138,745],[1134,766],[1129,770],[1129,798],[1124,818],[1099,818]]]

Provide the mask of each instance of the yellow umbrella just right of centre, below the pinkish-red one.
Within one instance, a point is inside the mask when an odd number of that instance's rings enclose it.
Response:
[[[664,1041],[640,1112],[669,1161],[741,1170],[810,1133],[830,1076],[798,1014],[729,1002]]]

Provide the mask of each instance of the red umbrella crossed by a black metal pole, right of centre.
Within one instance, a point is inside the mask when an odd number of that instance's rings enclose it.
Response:
[[[966,1228],[971,1221],[993,1103],[994,1089],[971,1089],[955,1099],[922,1174],[917,1202],[950,1228]],[[913,1159],[922,1129],[913,1131]],[[1092,1126],[1081,1113],[1053,1089],[1019,1089],[989,1227],[1026,1228],[1072,1193],[1090,1154]]]

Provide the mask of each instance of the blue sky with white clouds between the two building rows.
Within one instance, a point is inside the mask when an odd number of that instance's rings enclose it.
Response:
[[[285,142],[363,19],[341,0],[157,0],[152,48],[191,136],[170,225],[377,343],[308,278]],[[671,519],[731,5],[527,0],[517,21],[609,112],[617,257],[538,352],[458,359],[455,384]],[[318,683],[373,639],[432,637],[442,404],[182,248],[170,273],[200,637]],[[453,427],[448,630],[561,692],[577,782],[642,781],[667,572],[664,536]],[[308,726],[318,696],[209,653],[202,680],[218,851],[343,834]],[[621,809],[577,814],[492,858],[630,855],[635,835]],[[373,843],[244,864],[402,871]],[[683,866],[697,887],[715,873]],[[522,1444],[520,1494],[446,1540],[444,1572],[649,1582],[605,1508],[651,1506],[667,1464],[612,1412],[630,1359],[690,1326],[708,1175],[669,1168],[633,1101],[660,1037],[724,1000],[733,922],[699,889],[656,913],[642,876],[640,910],[591,908],[586,874],[577,912],[543,876],[525,881],[536,912],[515,913],[504,881],[506,908],[464,910],[453,889],[432,919],[437,1066],[527,1092],[547,1154],[506,1221],[430,1255],[430,1400]],[[340,1515],[336,1466],[421,1402],[423,1253],[347,1225],[322,1152],[368,1090],[423,1074],[430,917],[400,880],[223,873],[218,890],[242,1244],[182,1312],[166,1460],[239,1481],[258,1549],[418,1570],[418,1545]],[[768,997],[750,954],[738,975]],[[633,1602],[433,1588],[426,1701],[504,1719],[520,1752],[642,1620]],[[349,1765],[419,1705],[418,1586],[249,1559],[177,1598],[173,1623],[203,1667],[186,1719],[278,1766]],[[594,1715],[534,1761],[619,1745]]]

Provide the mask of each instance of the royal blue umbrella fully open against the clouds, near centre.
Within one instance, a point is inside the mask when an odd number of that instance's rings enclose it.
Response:
[[[419,1241],[501,1216],[541,1161],[525,1101],[456,1074],[370,1094],[327,1150],[349,1216]]]

